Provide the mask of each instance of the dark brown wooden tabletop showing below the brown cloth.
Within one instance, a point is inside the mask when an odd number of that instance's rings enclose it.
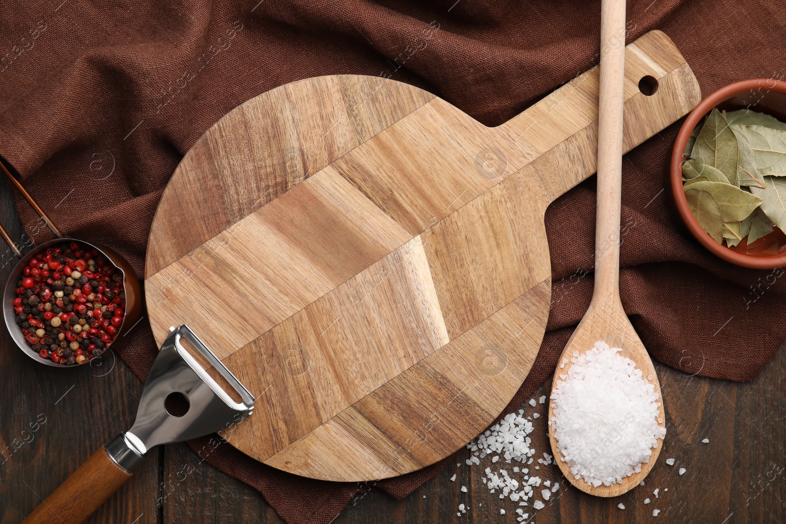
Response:
[[[0,221],[12,236],[22,237],[5,178]],[[0,253],[5,282],[15,259],[5,247]],[[94,368],[46,368],[0,334],[0,521],[20,522],[90,453],[130,427],[141,383],[123,361],[113,360]],[[645,486],[604,500],[567,486],[556,465],[540,466],[538,474],[559,481],[560,489],[545,508],[523,508],[530,514],[527,522],[786,522],[786,351],[781,348],[751,383],[685,376],[657,363],[656,368],[668,434]],[[544,384],[536,398],[549,387]],[[527,415],[541,414],[531,434],[538,456],[550,452],[545,407],[523,405]],[[703,438],[710,442],[703,444]],[[518,504],[489,493],[481,481],[490,457],[469,467],[468,456],[462,450],[456,460],[461,465],[449,464],[404,500],[376,492],[358,496],[334,522],[516,522]],[[674,466],[666,464],[669,457]],[[685,475],[678,475],[680,467]],[[652,494],[656,488],[658,498]],[[84,497],[90,497],[90,486]],[[645,498],[652,502],[644,504]],[[624,510],[617,508],[620,502]],[[467,507],[461,517],[459,504]],[[660,514],[653,517],[656,508]],[[255,489],[176,444],[153,451],[90,522],[282,521]]]

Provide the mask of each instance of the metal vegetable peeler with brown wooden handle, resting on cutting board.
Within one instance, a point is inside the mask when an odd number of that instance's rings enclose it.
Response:
[[[182,345],[187,340],[237,392],[234,401]],[[185,412],[167,409],[167,398],[183,395]],[[233,427],[251,415],[255,398],[204,343],[182,325],[173,328],[153,362],[129,431],[98,449],[23,524],[84,522],[131,477],[149,449]],[[90,486],[90,495],[84,495]]]

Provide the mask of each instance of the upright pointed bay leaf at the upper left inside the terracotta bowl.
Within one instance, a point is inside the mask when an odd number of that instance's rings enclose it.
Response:
[[[724,174],[731,184],[738,185],[737,155],[737,141],[733,130],[721,112],[713,109],[696,137],[692,158],[714,167]]]

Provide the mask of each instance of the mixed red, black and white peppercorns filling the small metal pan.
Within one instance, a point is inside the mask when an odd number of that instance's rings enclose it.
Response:
[[[16,291],[13,308],[24,339],[57,364],[101,355],[123,324],[123,273],[89,245],[64,243],[35,255]]]

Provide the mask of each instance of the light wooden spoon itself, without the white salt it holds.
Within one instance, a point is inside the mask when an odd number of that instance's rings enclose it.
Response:
[[[658,423],[665,427],[663,398],[655,368],[645,346],[630,324],[619,299],[619,215],[622,207],[623,170],[623,79],[625,68],[625,0],[601,2],[601,86],[598,119],[597,151],[597,219],[595,231],[595,288],[589,309],[578,324],[560,355],[553,388],[560,375],[567,375],[574,352],[582,354],[602,340],[611,347],[622,348],[641,369],[643,376],[655,387],[659,403]],[[567,359],[564,368],[562,362]],[[549,420],[553,417],[553,403],[549,403]],[[637,486],[652,469],[658,458],[663,439],[641,471],[624,478],[613,486],[594,487],[571,474],[556,445],[553,427],[549,426],[549,440],[556,464],[565,477],[585,493],[598,497],[616,497]]]

